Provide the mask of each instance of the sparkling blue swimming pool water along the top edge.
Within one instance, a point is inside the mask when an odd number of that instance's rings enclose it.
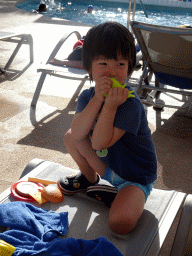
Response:
[[[106,21],[116,21],[127,26],[128,3],[91,1],[91,0],[47,0],[47,12],[44,15],[72,20],[88,25],[98,25]],[[17,7],[32,12],[37,10],[40,1],[27,0]],[[93,5],[93,13],[87,13],[87,6]],[[192,25],[192,11],[189,9],[167,8],[145,5],[148,18],[140,4],[136,6],[135,20],[149,24],[177,27],[183,24]]]

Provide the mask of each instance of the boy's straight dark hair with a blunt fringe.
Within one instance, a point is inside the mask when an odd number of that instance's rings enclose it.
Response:
[[[128,73],[130,74],[136,63],[136,48],[134,38],[126,27],[117,22],[106,22],[88,31],[82,52],[85,70],[89,72],[92,61],[99,56],[117,60],[118,54],[129,60]],[[92,77],[90,79],[92,80]]]

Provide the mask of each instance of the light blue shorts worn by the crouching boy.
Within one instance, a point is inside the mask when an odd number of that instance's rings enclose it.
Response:
[[[124,180],[121,177],[119,177],[109,167],[107,167],[103,179],[107,180],[109,183],[111,183],[111,185],[116,187],[118,189],[118,191],[121,190],[122,188],[125,188],[125,187],[128,187],[128,186],[139,187],[144,192],[144,194],[146,196],[146,201],[147,201],[147,198],[150,195],[150,193],[152,191],[152,188],[153,188],[153,185],[154,185],[154,182],[145,186],[145,185],[141,185],[139,183],[134,183],[134,182]]]

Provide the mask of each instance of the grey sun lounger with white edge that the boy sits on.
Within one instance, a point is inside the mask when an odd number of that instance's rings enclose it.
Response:
[[[57,181],[61,176],[76,173],[78,170],[63,165],[32,160],[25,168],[26,176]],[[101,183],[105,183],[104,180]],[[103,203],[90,198],[86,193],[64,196],[59,204],[44,203],[41,207],[56,212],[68,212],[69,228],[66,237],[81,239],[96,239],[104,236],[117,249],[128,256],[158,255],[163,242],[173,224],[184,199],[185,193],[154,189],[145,205],[138,226],[128,235],[116,235],[108,226],[109,208]],[[0,195],[0,203],[14,201],[10,190]]]

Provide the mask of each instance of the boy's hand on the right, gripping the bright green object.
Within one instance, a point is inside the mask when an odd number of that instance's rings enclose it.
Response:
[[[128,97],[129,90],[127,88],[122,89],[121,87],[111,88],[105,99],[105,104],[112,108],[117,108],[123,104]]]

